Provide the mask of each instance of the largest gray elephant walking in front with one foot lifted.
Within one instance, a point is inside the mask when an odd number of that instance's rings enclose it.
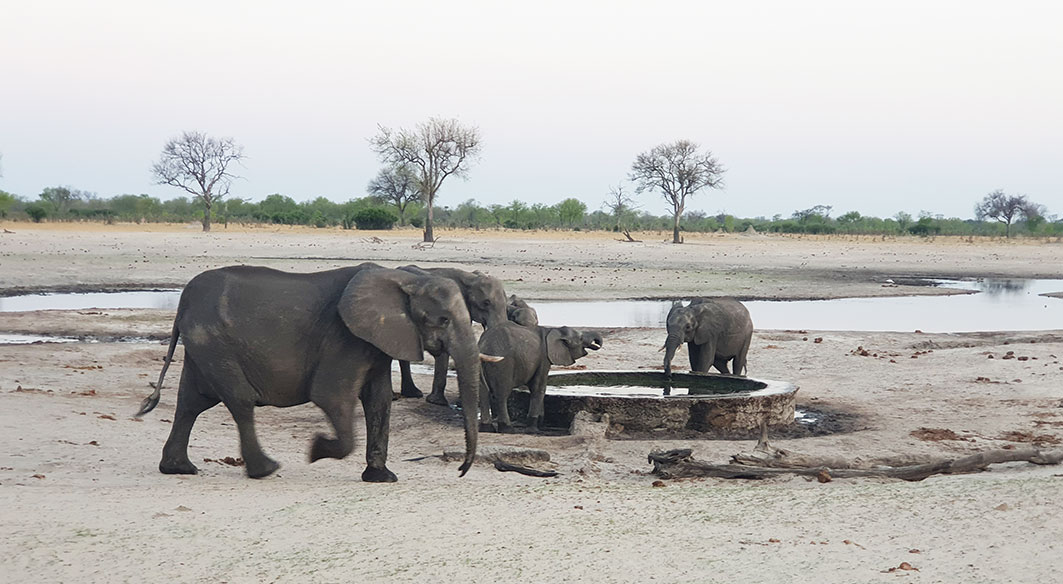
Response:
[[[442,278],[361,264],[315,273],[233,266],[205,271],[185,286],[166,364],[137,416],[158,403],[178,337],[185,360],[176,412],[163,447],[162,472],[191,474],[188,436],[196,418],[218,402],[236,421],[240,454],[253,479],[277,469],[255,435],[256,405],[308,401],[324,411],[335,438],[318,434],[310,462],[343,458],[354,449],[354,410],[366,415],[361,479],[393,482],[386,466],[391,412],[391,360],[420,361],[446,351],[457,364],[465,408],[466,458],[476,452],[479,353],[457,286]]]

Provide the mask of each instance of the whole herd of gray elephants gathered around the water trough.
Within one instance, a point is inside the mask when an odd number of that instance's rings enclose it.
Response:
[[[472,322],[483,326],[476,338]],[[735,300],[676,303],[668,316],[664,370],[680,343],[691,368],[745,369],[753,333],[748,312]],[[293,273],[231,266],[200,273],[181,294],[170,345],[142,416],[159,401],[179,338],[185,346],[170,435],[158,469],[190,474],[188,439],[196,418],[223,403],[236,422],[240,454],[251,478],[279,468],[258,444],[258,405],[318,405],[335,437],[315,436],[310,461],[343,458],[354,450],[357,401],[366,417],[364,481],[393,482],[386,465],[391,413],[391,362],[399,361],[400,395],[424,396],[409,363],[435,356],[432,389],[424,399],[448,405],[443,390],[451,360],[457,373],[466,454],[472,466],[478,432],[513,429],[507,407],[513,388],[532,395],[527,427],[542,423],[546,378],[553,365],[572,365],[602,348],[596,332],[542,327],[534,307],[506,297],[497,278],[457,268],[385,268],[364,263]]]

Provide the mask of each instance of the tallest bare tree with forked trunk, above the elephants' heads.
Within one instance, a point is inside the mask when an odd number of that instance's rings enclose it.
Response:
[[[429,118],[414,130],[377,128],[379,133],[370,138],[370,148],[385,164],[408,165],[414,170],[421,199],[428,207],[424,240],[435,241],[432,219],[436,194],[451,174],[468,178],[469,165],[480,151],[479,130],[441,118]]]

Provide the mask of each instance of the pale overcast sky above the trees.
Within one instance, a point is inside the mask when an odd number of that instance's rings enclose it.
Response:
[[[365,196],[377,124],[454,117],[482,158],[437,199],[600,208],[678,138],[727,168],[688,210],[1063,214],[1059,2],[6,2],[0,189],[151,182],[185,130],[243,145],[233,195]],[[653,213],[659,195],[640,197]]]

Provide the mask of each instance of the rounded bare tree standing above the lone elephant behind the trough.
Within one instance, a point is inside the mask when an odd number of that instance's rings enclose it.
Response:
[[[661,144],[643,152],[631,164],[629,180],[636,183],[636,193],[659,190],[672,205],[672,243],[680,244],[679,217],[686,210],[687,198],[703,188],[723,187],[724,167],[706,150],[698,152],[698,145],[690,140]]]

